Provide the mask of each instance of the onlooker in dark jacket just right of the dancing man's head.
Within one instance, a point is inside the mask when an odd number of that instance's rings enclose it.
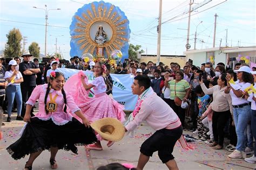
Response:
[[[154,79],[151,79],[151,87],[153,88],[154,92],[160,96],[161,90],[164,87],[164,80],[163,77],[161,77],[160,70],[156,69],[154,70]]]

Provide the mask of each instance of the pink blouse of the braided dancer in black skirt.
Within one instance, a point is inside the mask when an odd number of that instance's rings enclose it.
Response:
[[[64,112],[64,98],[62,95],[62,91],[57,90],[50,90],[50,93],[52,93],[52,98],[58,94],[55,102],[57,103],[57,109],[55,112],[49,112],[46,115],[45,112],[45,104],[44,104],[44,97],[46,93],[46,88],[48,84],[43,84],[37,86],[31,96],[29,97],[29,100],[26,102],[26,104],[34,105],[36,100],[39,99],[39,112],[36,114],[35,117],[41,119],[42,121],[48,121],[49,119],[52,119],[52,122],[56,125],[64,125],[72,120],[72,116],[68,113]],[[47,97],[47,102],[50,101],[50,96]],[[72,114],[78,110],[80,110],[75,102],[73,101],[72,96],[69,93],[66,93],[66,105],[67,108],[72,112]]]

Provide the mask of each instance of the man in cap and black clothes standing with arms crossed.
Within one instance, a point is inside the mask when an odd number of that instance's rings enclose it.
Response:
[[[21,57],[23,57],[23,62],[19,63],[19,72],[22,73],[23,82],[21,83],[21,91],[22,91],[22,112],[21,116],[25,115],[25,102],[28,101],[33,89],[36,87],[36,74],[40,72],[38,66],[35,63],[30,61],[30,57],[32,55],[29,52],[25,52]],[[31,116],[32,115],[31,110]]]

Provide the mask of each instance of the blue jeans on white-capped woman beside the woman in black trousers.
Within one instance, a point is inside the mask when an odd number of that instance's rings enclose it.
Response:
[[[245,151],[245,130],[251,119],[251,107],[246,105],[242,108],[233,108],[235,132],[237,132],[238,151]]]

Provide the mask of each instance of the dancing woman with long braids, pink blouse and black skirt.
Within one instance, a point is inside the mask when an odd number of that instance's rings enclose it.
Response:
[[[97,140],[72,96],[65,93],[64,83],[62,73],[52,72],[50,82],[37,86],[26,102],[24,121],[28,123],[21,138],[6,148],[15,160],[30,154],[25,169],[32,169],[33,161],[43,150],[51,151],[50,165],[55,169],[58,167],[55,157],[59,149],[77,154],[75,145],[91,144]],[[31,118],[30,110],[38,99],[39,112]],[[66,113],[67,107],[82,119],[83,124]]]

